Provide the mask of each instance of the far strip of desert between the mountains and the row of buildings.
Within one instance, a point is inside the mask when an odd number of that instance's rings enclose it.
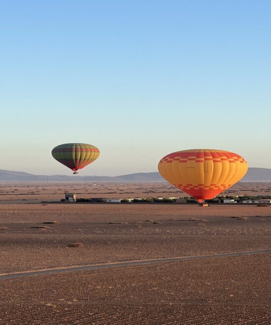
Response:
[[[187,196],[168,182],[156,183],[47,183],[0,182],[0,203],[60,201],[64,193],[77,197],[136,198]],[[238,183],[224,195],[271,195],[271,183]]]

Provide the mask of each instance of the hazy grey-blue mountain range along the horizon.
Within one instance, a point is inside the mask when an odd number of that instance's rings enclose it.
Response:
[[[158,172],[135,173],[120,176],[79,176],[79,175],[34,175],[21,171],[0,169],[0,182],[28,181],[28,182],[161,182],[164,179]],[[247,174],[241,182],[271,182],[271,169],[248,168]]]

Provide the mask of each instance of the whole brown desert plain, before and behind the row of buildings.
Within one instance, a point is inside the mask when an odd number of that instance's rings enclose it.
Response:
[[[270,205],[60,203],[64,192],[184,195],[164,182],[1,183],[1,325],[271,324]]]

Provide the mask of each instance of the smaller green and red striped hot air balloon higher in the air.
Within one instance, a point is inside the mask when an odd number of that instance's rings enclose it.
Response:
[[[78,174],[78,169],[94,162],[99,155],[100,151],[97,147],[86,143],[60,144],[52,150],[52,156],[70,168],[73,174]]]

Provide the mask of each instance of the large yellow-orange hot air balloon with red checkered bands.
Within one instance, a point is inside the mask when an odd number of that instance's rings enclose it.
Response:
[[[224,150],[191,149],[162,158],[160,174],[199,202],[210,199],[237,183],[247,172],[241,156]]]

